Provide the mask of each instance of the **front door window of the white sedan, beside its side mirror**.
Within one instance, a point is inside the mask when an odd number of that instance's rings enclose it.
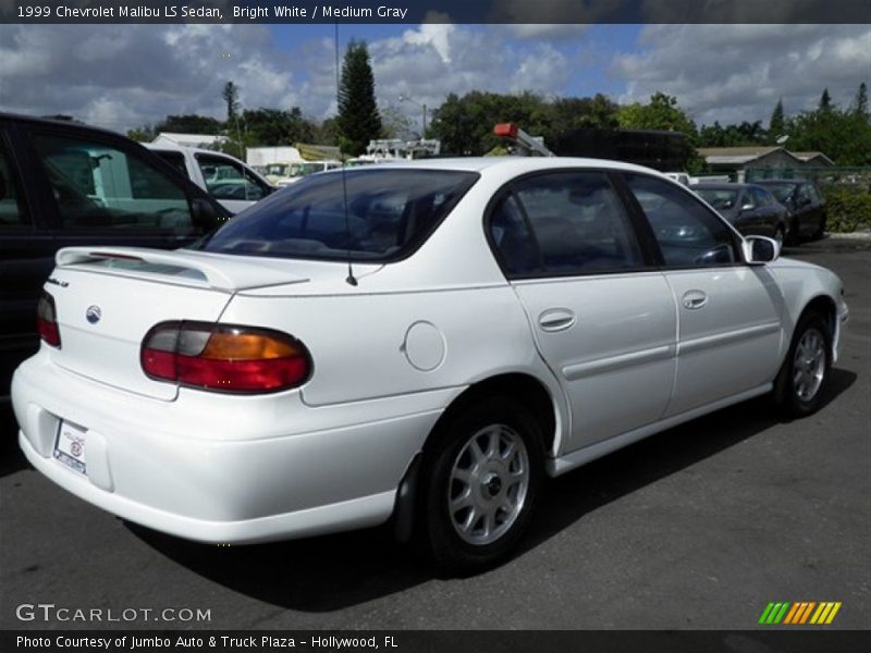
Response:
[[[732,230],[691,193],[643,174],[626,174],[670,268],[727,266],[739,261]]]

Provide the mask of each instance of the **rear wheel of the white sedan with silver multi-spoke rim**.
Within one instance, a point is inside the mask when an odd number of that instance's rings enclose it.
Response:
[[[504,559],[538,501],[541,427],[507,397],[470,406],[434,434],[421,482],[424,549],[446,572],[468,575]]]

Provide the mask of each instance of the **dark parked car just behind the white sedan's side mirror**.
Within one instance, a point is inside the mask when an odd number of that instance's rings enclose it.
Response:
[[[768,236],[783,247],[787,211],[764,188],[755,184],[695,184],[690,188],[740,233]]]

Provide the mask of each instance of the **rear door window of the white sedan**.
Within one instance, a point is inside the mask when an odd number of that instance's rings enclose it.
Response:
[[[541,174],[518,182],[496,207],[490,230],[506,272],[513,274],[565,276],[643,266],[623,205],[599,172]]]

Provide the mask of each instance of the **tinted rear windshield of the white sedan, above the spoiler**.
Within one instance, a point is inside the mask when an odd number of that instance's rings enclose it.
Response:
[[[394,260],[417,249],[477,180],[471,172],[378,168],[311,175],[196,247],[246,256]]]

